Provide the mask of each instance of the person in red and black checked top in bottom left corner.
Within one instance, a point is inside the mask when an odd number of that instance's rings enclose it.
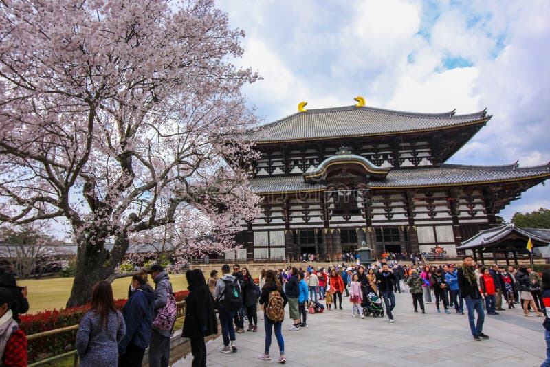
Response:
[[[13,318],[14,297],[0,287],[0,366],[27,367],[27,336]]]

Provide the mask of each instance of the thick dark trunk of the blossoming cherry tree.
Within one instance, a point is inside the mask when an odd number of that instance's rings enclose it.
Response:
[[[76,271],[67,307],[80,306],[91,301],[92,288],[96,282],[107,280],[113,274],[115,267],[126,254],[128,245],[126,234],[120,234],[115,238],[111,253],[105,249],[103,238],[89,238],[78,245]]]

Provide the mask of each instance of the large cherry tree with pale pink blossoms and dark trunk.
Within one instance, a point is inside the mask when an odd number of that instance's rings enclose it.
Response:
[[[222,252],[257,216],[242,36],[209,0],[0,1],[0,221],[70,223],[67,307],[133,238]]]

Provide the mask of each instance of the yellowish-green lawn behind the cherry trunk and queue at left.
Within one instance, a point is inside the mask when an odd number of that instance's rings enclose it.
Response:
[[[130,279],[131,278],[122,278],[113,282],[115,299],[128,297]],[[28,313],[36,313],[38,311],[61,309],[65,307],[71,294],[73,280],[74,278],[28,279],[19,280],[17,284],[20,286],[27,286],[30,306]],[[170,282],[172,282],[175,292],[187,289],[185,274],[170,275]],[[149,280],[149,284],[151,284],[153,288],[155,287],[151,280]]]

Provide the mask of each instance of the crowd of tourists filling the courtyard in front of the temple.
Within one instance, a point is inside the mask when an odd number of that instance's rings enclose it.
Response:
[[[223,340],[222,353],[236,353],[236,335],[258,330],[263,320],[265,347],[259,355],[270,360],[272,335],[279,348],[278,362],[284,364],[283,321],[288,305],[292,320],[290,331],[307,327],[311,309],[342,311],[342,298],[349,297],[351,317],[365,318],[366,304],[381,298],[389,322],[395,322],[395,292],[409,292],[412,311],[427,313],[434,304],[437,313],[459,315],[467,310],[467,320],[474,340],[489,339],[483,333],[485,313],[522,307],[525,317],[543,317],[550,310],[550,269],[542,278],[530,267],[485,267],[465,256],[459,265],[419,267],[401,265],[397,258],[383,258],[374,265],[355,264],[324,267],[287,267],[261,271],[259,284],[246,267],[221,267],[221,277],[213,270],[208,282],[199,269],[188,270],[188,298],[182,336],[190,339],[192,366],[206,366],[204,338],[218,332]],[[148,284],[148,276],[155,288]],[[170,337],[176,305],[168,274],[160,265],[133,275],[129,299],[121,311],[115,306],[113,289],[106,281],[92,290],[90,309],[80,320],[76,349],[80,366],[141,366],[148,348],[149,366],[168,366]],[[26,366],[27,339],[18,327],[19,313],[28,310],[25,287],[18,287],[10,274],[0,274],[0,359],[1,366]],[[432,298],[433,296],[433,298]],[[434,301],[434,302],[433,302]],[[380,300],[378,301],[380,302]],[[325,303],[324,305],[322,303]],[[258,315],[258,304],[263,315]],[[382,308],[382,302],[380,302]],[[548,307],[548,308],[547,308]],[[348,309],[346,307],[346,309]],[[364,311],[367,310],[367,311]],[[550,318],[544,319],[547,360],[550,367]]]

